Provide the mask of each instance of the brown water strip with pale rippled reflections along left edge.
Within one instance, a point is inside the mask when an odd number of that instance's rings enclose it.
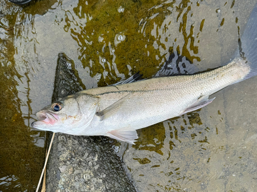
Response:
[[[43,3],[42,3],[43,2]],[[45,14],[57,1],[41,1],[28,7],[1,1],[0,71],[1,120],[0,190],[34,191],[45,159],[45,132],[31,130],[34,121],[34,75],[40,71],[36,15]],[[43,6],[45,5],[45,6]],[[44,63],[43,63],[44,64]],[[51,94],[51,93],[50,93]],[[43,104],[45,105],[45,104]]]

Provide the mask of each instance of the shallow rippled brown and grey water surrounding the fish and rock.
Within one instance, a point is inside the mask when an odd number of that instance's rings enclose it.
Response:
[[[167,60],[177,61],[181,73],[182,63],[215,68],[238,49],[238,32],[256,2],[42,0],[19,7],[1,0],[0,190],[37,185],[45,132],[30,123],[51,103],[58,53],[74,60],[87,89],[138,71],[148,78],[169,68]],[[254,191],[255,82],[232,85],[199,111],[138,130],[134,146],[117,143],[138,191]]]

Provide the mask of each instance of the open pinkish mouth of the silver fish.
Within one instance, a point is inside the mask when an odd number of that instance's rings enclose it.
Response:
[[[31,125],[33,128],[40,128],[40,125],[54,125],[56,122],[58,122],[58,116],[56,114],[52,114],[49,112],[37,112],[36,117],[39,119],[39,121],[33,122]]]

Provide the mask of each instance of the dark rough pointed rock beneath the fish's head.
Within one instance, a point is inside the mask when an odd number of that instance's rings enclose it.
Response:
[[[83,89],[74,62],[60,53],[52,101]],[[57,133],[47,163],[46,191],[135,191],[112,143],[106,137]]]

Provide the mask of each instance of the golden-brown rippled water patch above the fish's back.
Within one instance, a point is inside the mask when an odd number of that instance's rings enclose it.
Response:
[[[80,47],[79,60],[84,68],[89,68],[90,76],[99,76],[98,73],[101,73],[99,86],[127,78],[131,72],[144,71],[145,76],[151,76],[157,71],[156,66],[159,64],[156,58],[162,61],[163,56],[151,46],[153,36],[148,26],[154,23],[154,17],[150,20],[149,16],[142,18],[143,13],[150,15],[156,12],[156,9],[151,12],[146,10],[156,5],[156,2],[144,2],[144,6],[141,6],[140,1],[118,4],[90,1],[86,4],[85,1],[79,1],[72,11],[63,7],[66,22],[64,30],[70,32],[77,41]],[[120,6],[123,12],[119,12]],[[134,9],[137,11],[132,11]],[[144,24],[140,20],[145,20]],[[149,24],[146,24],[146,20]]]

